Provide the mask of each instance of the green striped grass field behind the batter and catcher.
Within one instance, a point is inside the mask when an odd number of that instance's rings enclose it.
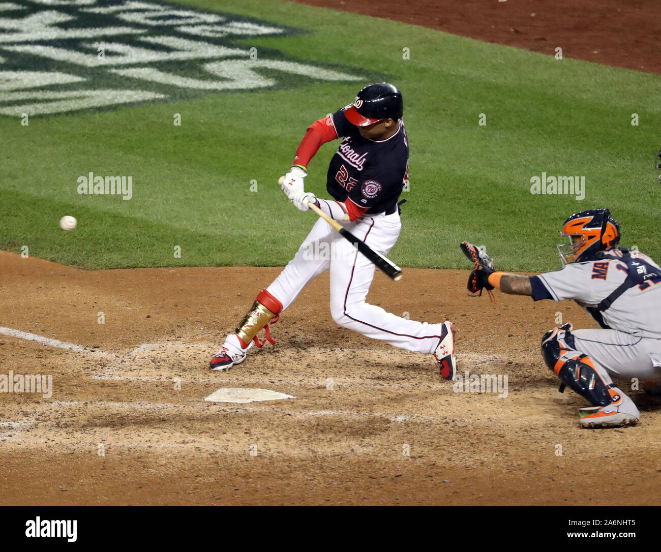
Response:
[[[287,2],[180,3],[305,30],[234,42],[366,81],[300,77],[280,89],[34,116],[29,126],[0,116],[0,249],[27,245],[84,268],[285,264],[315,217],[293,208],[278,177],[313,120],[383,78],[403,92],[410,139],[404,226],[390,255],[401,266],[466,268],[457,246],[469,239],[498,268],[553,270],[564,218],[602,206],[621,223],[622,245],[660,260],[658,75]],[[309,167],[307,188],[320,196],[335,147]],[[90,171],[132,175],[132,200],[77,194]],[[531,194],[542,172],[586,177],[586,197]],[[75,231],[59,229],[65,214],[77,217]]]

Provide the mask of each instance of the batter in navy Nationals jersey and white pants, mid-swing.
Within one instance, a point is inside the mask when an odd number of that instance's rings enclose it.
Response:
[[[397,200],[408,178],[408,139],[402,95],[388,83],[364,87],[350,104],[307,129],[282,190],[296,208],[317,205],[369,247],[387,255],[401,230]],[[340,139],[327,173],[332,199],[304,190],[307,165],[326,142]],[[328,254],[330,252],[330,255]],[[326,271],[331,280],[331,315],[340,326],[410,351],[434,354],[441,375],[453,379],[456,370],[454,331],[448,321],[429,324],[407,320],[366,302],[374,265],[323,219],[317,219],[294,258],[280,276],[258,294],[235,333],[227,336],[212,358],[212,370],[227,370],[243,362],[257,334],[278,321],[298,294]]]

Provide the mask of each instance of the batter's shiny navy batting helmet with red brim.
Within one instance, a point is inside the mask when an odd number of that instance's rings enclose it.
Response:
[[[399,119],[404,114],[402,93],[389,83],[374,83],[361,89],[356,101],[344,110],[351,124],[368,126],[384,119]]]

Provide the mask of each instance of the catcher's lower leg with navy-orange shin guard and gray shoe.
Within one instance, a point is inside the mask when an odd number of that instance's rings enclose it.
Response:
[[[562,393],[568,385],[585,397],[593,407],[579,409],[583,427],[633,425],[640,413],[633,401],[609,377],[604,379],[587,354],[576,350],[572,325],[565,324],[545,333],[541,352],[545,364],[562,381]]]

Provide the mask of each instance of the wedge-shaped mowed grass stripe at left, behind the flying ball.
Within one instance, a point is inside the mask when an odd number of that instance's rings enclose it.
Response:
[[[0,202],[6,210],[0,242],[3,249],[16,253],[26,246],[30,256],[54,258],[77,268],[247,264],[246,256],[237,255],[231,243],[213,243],[199,231],[8,190],[0,190]],[[59,213],[71,212],[77,215],[78,227],[62,231]],[[262,247],[262,240],[261,233],[249,231],[243,243],[251,251]],[[180,247],[180,257],[175,257],[175,246]],[[274,265],[267,260],[263,266]]]

